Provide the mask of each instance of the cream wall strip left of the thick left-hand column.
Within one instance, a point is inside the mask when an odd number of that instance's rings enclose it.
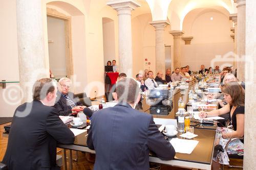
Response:
[[[0,1],[0,81],[19,81],[16,2]],[[0,117],[12,117],[20,104],[19,83],[0,87]]]

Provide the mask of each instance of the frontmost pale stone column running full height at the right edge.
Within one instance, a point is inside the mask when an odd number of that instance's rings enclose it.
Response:
[[[244,129],[244,170],[256,167],[256,1],[246,3],[246,76],[245,76],[245,129]]]

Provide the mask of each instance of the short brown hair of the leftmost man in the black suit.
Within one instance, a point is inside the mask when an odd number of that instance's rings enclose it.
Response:
[[[45,99],[49,92],[56,88],[56,80],[44,78],[37,80],[33,85],[33,100]]]

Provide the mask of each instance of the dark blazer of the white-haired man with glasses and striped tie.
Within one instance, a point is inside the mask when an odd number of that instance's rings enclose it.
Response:
[[[83,104],[79,102],[78,98],[74,98],[74,93],[69,92],[68,95],[77,106],[83,106]],[[61,116],[68,116],[70,113],[72,113],[71,106],[67,102],[66,98],[61,95],[61,92],[59,91],[57,92],[56,103],[53,107],[58,110],[57,112]]]

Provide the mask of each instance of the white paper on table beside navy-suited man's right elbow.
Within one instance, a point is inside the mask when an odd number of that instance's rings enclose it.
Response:
[[[191,154],[193,150],[196,148],[198,142],[198,140],[188,140],[179,138],[173,138],[172,140],[170,140],[170,143],[172,143],[175,152],[182,154]]]

